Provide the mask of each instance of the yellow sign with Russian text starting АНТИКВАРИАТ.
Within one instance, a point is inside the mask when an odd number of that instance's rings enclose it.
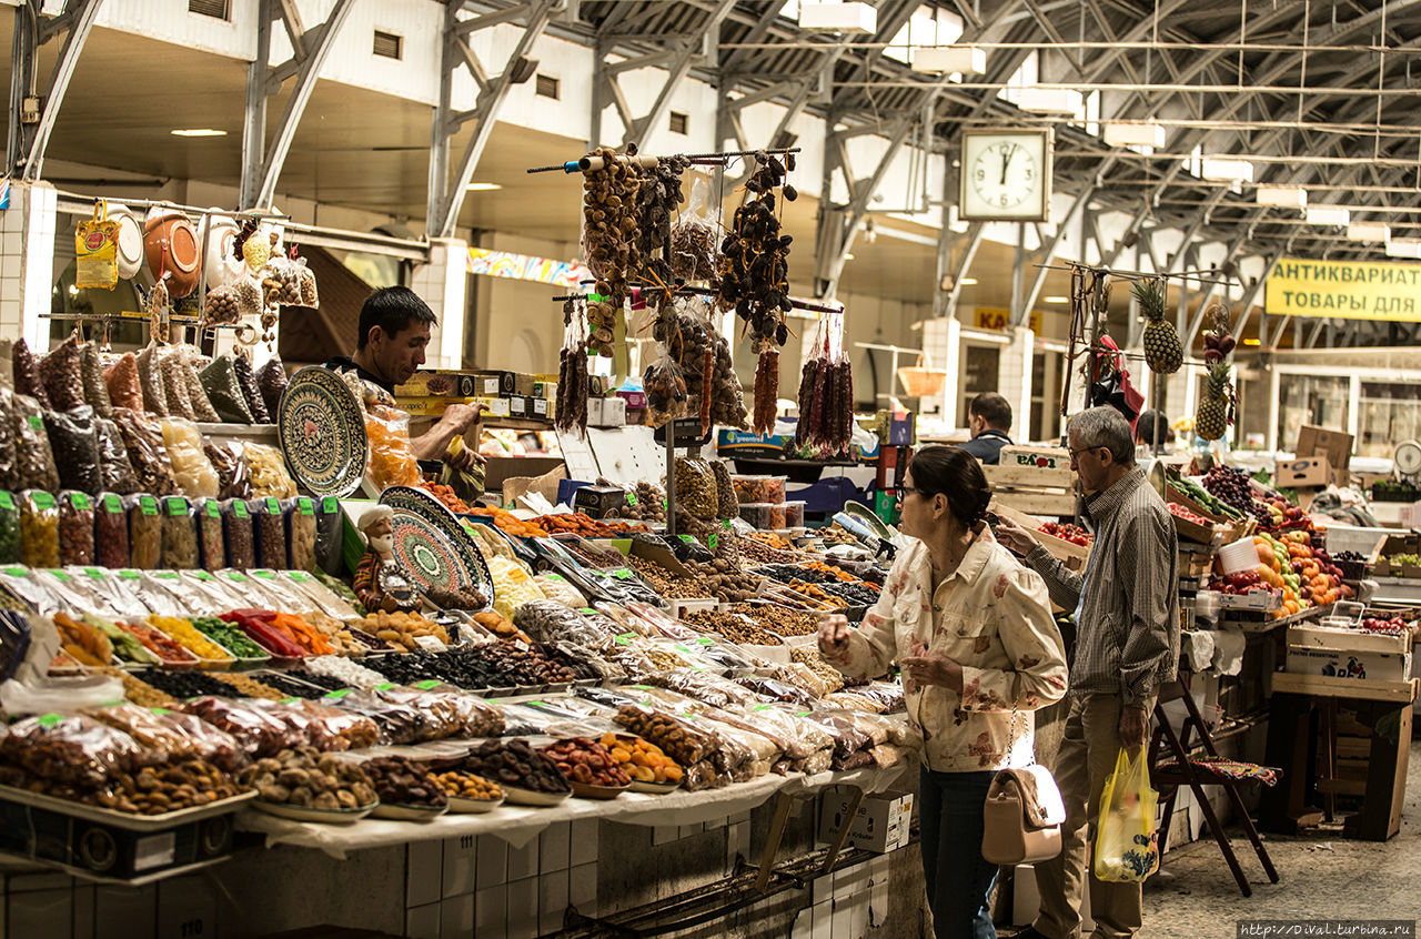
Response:
[[[1285,257],[1268,276],[1270,317],[1421,321],[1421,264]]]

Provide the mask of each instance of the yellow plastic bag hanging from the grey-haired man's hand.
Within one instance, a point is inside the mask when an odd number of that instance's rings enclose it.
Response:
[[[1145,747],[1131,754],[1121,749],[1115,771],[1100,794],[1096,821],[1096,879],[1121,884],[1142,882],[1160,869],[1160,832],[1155,804],[1160,793],[1150,788]]]

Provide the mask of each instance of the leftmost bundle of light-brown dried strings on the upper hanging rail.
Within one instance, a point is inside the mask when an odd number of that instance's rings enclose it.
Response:
[[[635,148],[628,148],[627,156],[634,153]],[[583,173],[583,256],[597,277],[597,298],[587,304],[587,348],[610,358],[617,313],[631,293],[632,277],[641,273],[637,200],[644,170],[608,146],[590,158],[594,168]]]

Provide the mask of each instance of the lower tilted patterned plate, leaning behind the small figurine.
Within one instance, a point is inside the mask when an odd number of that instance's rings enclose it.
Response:
[[[411,486],[391,486],[379,504],[395,510],[395,560],[421,588],[470,587],[493,604],[493,575],[473,536],[443,503]]]

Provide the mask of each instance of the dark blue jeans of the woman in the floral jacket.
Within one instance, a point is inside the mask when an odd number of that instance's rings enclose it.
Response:
[[[922,872],[938,939],[996,939],[988,898],[998,868],[982,858],[982,805],[993,776],[921,767]]]

